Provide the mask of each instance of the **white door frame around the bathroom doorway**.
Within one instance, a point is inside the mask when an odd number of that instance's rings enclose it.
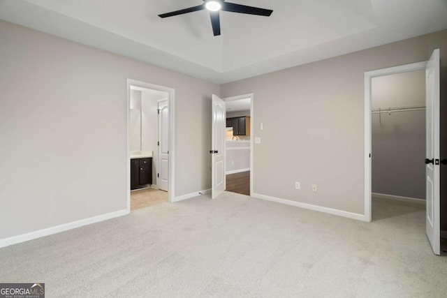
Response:
[[[138,80],[127,79],[127,211],[131,211],[131,138],[130,138],[130,121],[131,121],[131,86],[153,89],[156,91],[163,91],[169,94],[168,108],[169,108],[169,173],[168,173],[168,200],[173,202],[175,198],[175,89],[164,87],[156,84],[142,82]]]

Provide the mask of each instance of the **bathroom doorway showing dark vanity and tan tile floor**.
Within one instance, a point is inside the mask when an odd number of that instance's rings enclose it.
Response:
[[[128,211],[174,198],[174,89],[127,80]]]

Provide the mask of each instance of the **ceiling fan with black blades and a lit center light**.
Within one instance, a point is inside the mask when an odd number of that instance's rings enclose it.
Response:
[[[230,13],[246,13],[248,15],[263,15],[270,17],[273,10],[258,8],[253,6],[245,6],[242,4],[235,4],[226,2],[225,0],[203,0],[203,4],[198,6],[192,6],[181,10],[175,10],[170,13],[163,13],[159,17],[173,17],[174,15],[183,15],[184,13],[192,13],[198,10],[210,10],[212,31],[214,36],[221,35],[221,21],[219,17],[219,10],[229,11]]]

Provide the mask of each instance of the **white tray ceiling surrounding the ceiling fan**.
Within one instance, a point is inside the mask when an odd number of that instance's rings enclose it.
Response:
[[[202,0],[0,0],[0,18],[224,83],[447,29],[447,0],[228,0],[270,17],[207,10]]]

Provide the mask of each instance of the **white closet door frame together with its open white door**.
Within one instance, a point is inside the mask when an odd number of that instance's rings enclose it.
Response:
[[[429,61],[365,73],[365,221],[372,220],[372,79],[383,75],[425,70],[425,233],[436,255],[440,254],[439,210],[439,49]],[[388,110],[391,112],[391,109]],[[381,110],[379,109],[379,114]],[[373,157],[374,158],[374,157]],[[400,157],[402,158],[402,156]],[[424,161],[420,161],[424,163]]]

